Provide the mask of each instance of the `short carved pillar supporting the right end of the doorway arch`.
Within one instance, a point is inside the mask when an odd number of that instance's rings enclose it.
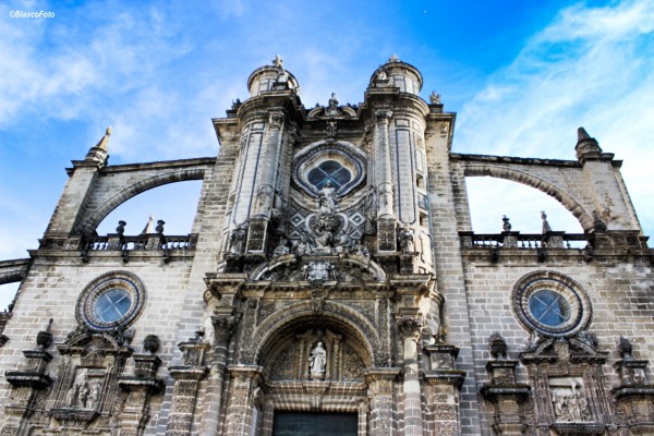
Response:
[[[365,372],[371,410],[370,436],[390,436],[395,434],[392,387],[399,374],[400,368],[373,367]]]

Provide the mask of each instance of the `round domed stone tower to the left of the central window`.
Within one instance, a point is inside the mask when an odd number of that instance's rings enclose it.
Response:
[[[239,125],[235,177],[232,180],[225,238],[226,252],[256,257],[266,252],[270,222],[279,218],[283,196],[283,159],[295,129],[289,108],[299,105],[298,80],[283,68],[279,55],[271,65],[255,70],[247,80],[250,98],[232,109]],[[288,179],[288,177],[287,177]]]

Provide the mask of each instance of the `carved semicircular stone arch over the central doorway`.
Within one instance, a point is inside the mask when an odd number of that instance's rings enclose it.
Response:
[[[325,326],[337,326],[359,342],[365,350],[362,355],[365,364],[379,366],[379,338],[375,326],[356,311],[343,304],[325,302],[324,311],[316,312],[311,302],[295,303],[266,318],[253,332],[254,360],[262,363],[275,343],[303,323],[315,325],[320,320]]]

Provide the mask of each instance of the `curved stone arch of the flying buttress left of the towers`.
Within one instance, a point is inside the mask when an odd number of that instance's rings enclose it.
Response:
[[[140,180],[130,186],[116,193],[112,197],[107,199],[102,205],[95,209],[84,221],[77,226],[76,231],[82,234],[90,234],[100,225],[102,219],[107,217],[113,209],[128,199],[157,186],[161,186],[169,183],[185,182],[190,180],[202,180],[205,175],[205,169],[180,169],[175,171],[169,171],[161,174],[153,175],[150,178]]]

